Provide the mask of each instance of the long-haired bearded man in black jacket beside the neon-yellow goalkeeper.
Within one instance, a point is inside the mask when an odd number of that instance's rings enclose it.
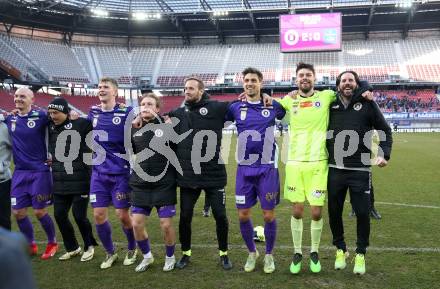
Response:
[[[353,273],[365,273],[365,253],[370,236],[371,146],[374,130],[379,151],[374,165],[384,167],[391,155],[392,135],[379,107],[360,95],[359,77],[342,72],[337,80],[338,98],[330,107],[327,150],[329,153],[328,211],[333,244],[337,248],[335,269],[346,267],[348,256],[342,222],[347,189],[357,218],[357,248]]]

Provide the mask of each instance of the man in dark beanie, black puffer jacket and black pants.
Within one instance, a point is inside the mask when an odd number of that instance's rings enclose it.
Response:
[[[85,138],[92,130],[92,125],[83,118],[69,119],[69,107],[64,98],[55,98],[49,104],[48,112],[51,118],[49,152],[52,155],[54,214],[66,248],[66,253],[59,260],[68,260],[81,254],[81,247],[69,221],[72,207],[73,217],[84,241],[81,261],[89,261],[97,245],[87,218],[90,168],[84,162],[84,153],[90,152]]]

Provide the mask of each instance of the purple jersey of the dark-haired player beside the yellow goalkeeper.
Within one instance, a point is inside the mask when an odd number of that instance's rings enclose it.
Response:
[[[234,102],[229,106],[226,120],[235,121],[237,126],[239,165],[276,167],[275,119],[282,119],[285,114],[276,101],[268,107],[261,101]]]

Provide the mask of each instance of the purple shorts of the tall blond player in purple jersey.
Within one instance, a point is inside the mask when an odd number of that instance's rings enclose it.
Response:
[[[90,181],[90,204],[92,208],[106,208],[113,204],[115,209],[130,207],[129,174],[108,175],[92,172]]]

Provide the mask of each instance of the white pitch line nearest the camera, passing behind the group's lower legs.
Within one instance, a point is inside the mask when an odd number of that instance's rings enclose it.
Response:
[[[46,244],[45,241],[37,241],[37,244]],[[125,248],[127,246],[127,242],[113,242],[117,248]],[[63,244],[63,242],[58,242],[58,244]],[[261,243],[262,244],[262,243]],[[163,244],[151,244],[151,247],[154,248],[162,248],[164,247]],[[179,247],[180,244],[176,244],[176,247]],[[257,246],[260,246],[259,243],[257,243]],[[202,248],[202,249],[216,249],[218,248],[218,245],[213,244],[191,244],[192,248]],[[238,245],[238,244],[229,244],[229,248],[231,249],[246,249],[247,247],[245,245]],[[310,249],[310,246],[303,246],[304,249]],[[281,249],[281,250],[288,250],[293,251],[293,245],[276,245],[275,249]],[[335,247],[332,246],[320,246],[320,250],[322,251],[334,251]],[[374,251],[374,252],[414,252],[414,253],[440,253],[440,247],[439,248],[432,248],[432,247],[368,247],[367,251]]]

